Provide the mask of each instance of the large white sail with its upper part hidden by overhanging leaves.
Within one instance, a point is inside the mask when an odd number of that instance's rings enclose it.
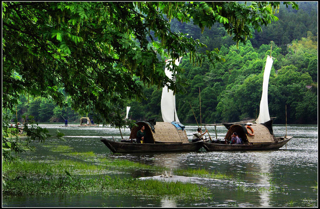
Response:
[[[179,66],[181,58],[182,57],[179,57],[179,59],[175,60],[175,65]],[[166,60],[165,64],[167,65],[167,62],[171,60],[172,59]],[[172,65],[170,67],[172,68]],[[167,67],[165,67],[164,72],[169,79],[174,79],[172,78],[172,71],[168,70]],[[173,95],[172,90],[169,89],[168,91],[167,86],[162,89],[161,114],[164,122],[180,122],[176,111],[176,97]]]

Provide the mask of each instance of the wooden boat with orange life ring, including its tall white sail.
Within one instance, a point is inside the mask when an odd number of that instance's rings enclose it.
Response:
[[[212,141],[212,143],[203,143],[204,149],[206,149],[207,151],[278,149],[284,146],[291,138],[293,138],[286,135],[284,137],[276,138],[273,134],[273,120],[270,120],[268,109],[268,82],[272,63],[272,57],[268,56],[263,75],[260,113],[258,119],[255,121],[256,124],[223,123],[223,125],[228,129],[224,141],[215,140]],[[250,131],[248,129],[250,129]],[[234,132],[236,132],[239,138],[242,139],[243,144],[227,144],[227,141],[231,139],[231,136]]]

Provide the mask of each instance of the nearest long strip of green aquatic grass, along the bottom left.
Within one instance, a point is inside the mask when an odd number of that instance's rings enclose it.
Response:
[[[194,183],[166,182],[158,180],[138,180],[110,178],[105,176],[97,179],[67,179],[61,185],[59,179],[52,180],[9,180],[3,187],[4,196],[14,195],[51,195],[51,194],[78,194],[103,192],[132,195],[139,198],[152,197],[179,200],[202,200],[211,198],[212,194],[207,188]],[[141,195],[146,194],[146,195]]]

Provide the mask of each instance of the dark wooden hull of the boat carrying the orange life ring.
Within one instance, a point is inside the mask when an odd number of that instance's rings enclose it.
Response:
[[[284,146],[293,137],[287,136],[286,139],[283,137],[277,137],[278,142],[256,144],[256,145],[229,145],[229,144],[216,144],[216,143],[202,143],[203,148],[206,151],[217,151],[217,150],[268,150],[268,149],[279,149]]]

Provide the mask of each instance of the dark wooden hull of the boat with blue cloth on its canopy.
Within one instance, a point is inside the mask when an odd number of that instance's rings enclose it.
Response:
[[[197,151],[202,147],[203,141],[189,143],[157,143],[139,144],[117,142],[105,138],[100,139],[113,153],[141,153],[141,152],[178,152]]]

